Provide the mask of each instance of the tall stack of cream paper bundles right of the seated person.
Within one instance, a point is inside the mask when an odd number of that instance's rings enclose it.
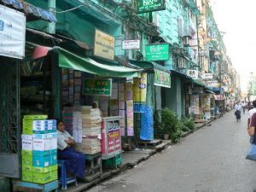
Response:
[[[84,154],[97,154],[102,151],[101,146],[102,117],[99,108],[82,108],[82,143],[77,149]]]

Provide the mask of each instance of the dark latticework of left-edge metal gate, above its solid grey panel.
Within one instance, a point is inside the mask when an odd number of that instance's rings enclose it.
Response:
[[[0,152],[20,153],[20,64],[0,65]]]

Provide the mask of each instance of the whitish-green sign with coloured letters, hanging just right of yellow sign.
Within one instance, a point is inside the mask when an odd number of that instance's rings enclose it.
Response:
[[[171,88],[170,74],[154,69],[154,85]]]

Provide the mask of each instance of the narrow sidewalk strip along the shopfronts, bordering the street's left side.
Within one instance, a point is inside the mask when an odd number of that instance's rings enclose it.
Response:
[[[197,131],[198,129],[201,129],[202,127],[211,125],[212,121],[214,119],[207,121],[207,123],[203,123],[203,124],[196,124],[195,125],[195,130],[194,131],[188,131],[188,132],[184,132],[183,133],[183,137],[188,136],[189,134]],[[117,174],[119,174],[120,172],[124,172],[125,170],[129,169],[129,168],[133,168],[135,166],[137,166],[140,162],[142,162],[143,160],[148,160],[148,158],[150,156],[152,156],[153,154],[156,154],[158,151],[164,150],[165,148],[168,148],[171,145],[171,141],[170,140],[163,140],[162,143],[160,143],[159,145],[155,146],[154,149],[136,149],[136,150],[132,150],[132,151],[125,151],[122,154],[122,158],[123,158],[123,164],[121,166],[119,166],[117,169],[112,169],[112,170],[103,170],[102,176],[96,178],[94,181],[90,182],[90,183],[82,183],[79,182],[78,186],[76,186],[75,184],[69,184],[67,186],[67,190],[61,190],[59,189],[59,191],[61,192],[81,192],[84,191],[85,189],[90,188],[91,186],[95,185],[96,183],[100,183],[101,181],[108,179],[110,177],[113,177]]]

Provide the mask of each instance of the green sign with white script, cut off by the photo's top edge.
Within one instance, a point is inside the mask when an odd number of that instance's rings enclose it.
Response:
[[[165,0],[137,0],[137,13],[153,12],[166,9]]]

